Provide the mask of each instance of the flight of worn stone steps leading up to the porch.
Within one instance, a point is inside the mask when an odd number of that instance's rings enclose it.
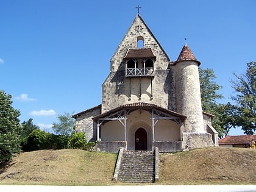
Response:
[[[152,183],[155,181],[153,151],[124,151],[118,180],[120,182]]]

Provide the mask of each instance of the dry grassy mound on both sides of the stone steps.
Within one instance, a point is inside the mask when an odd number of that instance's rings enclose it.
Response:
[[[24,152],[0,166],[0,185],[127,185],[112,181],[116,157],[79,149]],[[161,154],[152,185],[255,183],[255,149],[205,148]]]

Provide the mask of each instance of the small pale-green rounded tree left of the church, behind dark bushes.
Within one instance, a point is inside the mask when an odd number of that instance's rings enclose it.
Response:
[[[69,113],[65,113],[64,115],[59,115],[57,117],[59,119],[59,123],[52,123],[52,129],[57,135],[70,135],[75,126],[75,120],[72,118],[72,115]]]

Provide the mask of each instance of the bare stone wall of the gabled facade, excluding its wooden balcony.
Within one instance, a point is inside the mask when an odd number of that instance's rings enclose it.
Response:
[[[142,29],[136,31],[137,26],[141,26]],[[141,98],[139,96],[140,78],[129,79],[125,77],[124,57],[129,48],[137,48],[138,38],[143,39],[144,48],[151,48],[156,57],[154,78],[152,79],[153,98],[151,98],[151,77],[141,77]],[[102,113],[120,105],[134,102],[148,102],[174,110],[175,76],[172,74],[174,71],[168,68],[168,55],[163,51],[140,16],[137,16],[133,21],[115,54],[113,54],[110,65],[110,74],[102,84]]]

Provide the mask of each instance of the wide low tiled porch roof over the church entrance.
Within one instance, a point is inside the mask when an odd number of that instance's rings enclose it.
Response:
[[[113,108],[112,110],[109,110],[108,112],[102,113],[101,115],[94,116],[93,121],[97,121],[99,118],[105,118],[107,116],[110,116],[116,112],[119,112],[124,109],[129,109],[130,112],[138,109],[143,109],[143,110],[152,110],[152,108],[157,109],[160,112],[167,113],[170,116],[175,116],[177,118],[180,118],[180,120],[183,122],[187,118],[187,116],[184,116],[180,113],[174,112],[172,110],[168,110],[166,108],[160,107],[155,104],[149,104],[146,102],[136,102],[132,104],[126,104],[126,105],[120,105],[119,107]]]

